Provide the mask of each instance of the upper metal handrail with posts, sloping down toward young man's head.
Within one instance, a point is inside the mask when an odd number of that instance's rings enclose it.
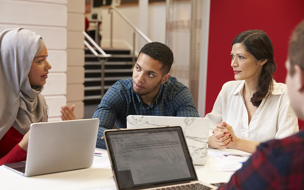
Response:
[[[109,13],[111,14],[110,22],[110,47],[113,47],[113,11],[114,10],[123,20],[133,28],[133,62],[135,62],[135,32],[137,32],[147,42],[152,42],[140,29],[138,29],[126,16],[123,15],[114,5],[110,5]]]

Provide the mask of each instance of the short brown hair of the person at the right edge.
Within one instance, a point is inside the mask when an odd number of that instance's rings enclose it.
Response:
[[[289,44],[289,74],[295,73],[294,65],[299,65],[304,70],[304,20],[295,28]]]

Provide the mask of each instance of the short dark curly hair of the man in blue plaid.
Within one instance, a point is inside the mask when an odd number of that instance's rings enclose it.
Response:
[[[160,42],[147,43],[141,48],[138,57],[141,53],[146,54],[152,59],[161,62],[163,65],[161,67],[163,76],[169,73],[173,63],[173,53],[168,46]]]

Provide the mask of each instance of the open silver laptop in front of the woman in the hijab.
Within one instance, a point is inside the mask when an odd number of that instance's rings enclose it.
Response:
[[[32,123],[26,161],[3,166],[24,176],[89,168],[98,125],[99,119]]]

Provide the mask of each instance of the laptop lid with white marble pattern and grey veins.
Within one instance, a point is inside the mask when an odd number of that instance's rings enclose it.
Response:
[[[127,128],[179,125],[183,129],[195,165],[205,165],[208,153],[208,118],[170,116],[127,116]]]

